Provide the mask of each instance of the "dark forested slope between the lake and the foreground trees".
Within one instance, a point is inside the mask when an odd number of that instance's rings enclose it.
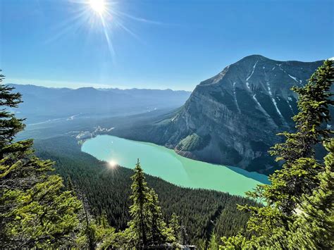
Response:
[[[82,153],[73,137],[37,140],[35,149],[41,158],[56,161],[56,173],[64,179],[70,177],[85,192],[95,216],[105,211],[111,226],[117,230],[125,229],[130,220],[132,170],[120,166],[110,168],[108,163]],[[200,246],[205,246],[212,233],[219,239],[245,229],[249,216],[238,211],[237,204],[255,204],[240,196],[177,187],[150,175],[147,175],[147,182],[159,195],[167,221],[173,212],[180,215],[190,242]]]

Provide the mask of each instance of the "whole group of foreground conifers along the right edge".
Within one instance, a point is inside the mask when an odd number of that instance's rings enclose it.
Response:
[[[267,206],[240,206],[252,215],[247,230],[252,235],[223,237],[221,249],[330,249],[333,246],[333,150],[332,133],[323,127],[333,105],[330,87],[332,61],[325,61],[307,85],[294,88],[299,113],[295,133],[284,132],[286,141],[271,154],[283,160],[271,185],[259,185],[249,196],[264,199]],[[325,163],[316,161],[314,146],[323,142],[329,151]]]

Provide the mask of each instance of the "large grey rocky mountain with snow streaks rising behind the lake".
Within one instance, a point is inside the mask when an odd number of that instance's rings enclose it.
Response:
[[[297,96],[323,63],[275,61],[253,55],[201,82],[180,110],[119,135],[162,144],[190,158],[268,173],[275,162],[268,149],[292,130]]]

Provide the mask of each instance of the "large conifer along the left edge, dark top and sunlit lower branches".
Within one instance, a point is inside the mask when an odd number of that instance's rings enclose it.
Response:
[[[0,76],[0,242],[2,247],[65,246],[73,243],[81,203],[49,175],[54,163],[33,154],[32,139],[14,142],[25,125],[8,111],[21,101]]]

